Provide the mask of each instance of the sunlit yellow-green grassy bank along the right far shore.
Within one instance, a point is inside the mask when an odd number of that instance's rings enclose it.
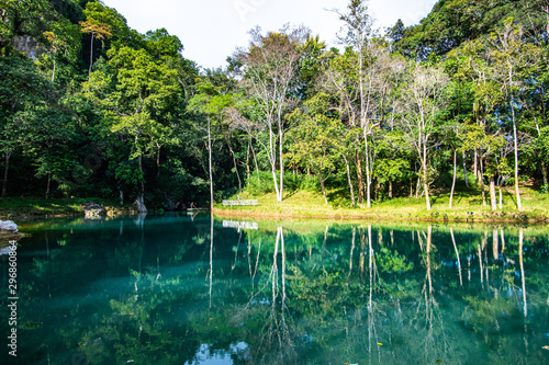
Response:
[[[474,191],[457,192],[452,208],[449,208],[450,194],[442,193],[432,197],[432,209],[427,210],[425,198],[400,197],[373,203],[370,208],[365,204],[350,206],[345,191],[330,191],[328,205],[321,193],[295,191],[285,194],[277,202],[273,193],[239,194],[242,199],[257,198],[258,206],[215,206],[214,213],[221,216],[249,217],[316,217],[336,219],[383,219],[383,220],[436,220],[436,221],[502,221],[502,223],[549,223],[549,194],[522,187],[523,210],[516,208],[515,195],[511,191],[503,194],[502,209],[494,213],[483,206],[480,193]],[[233,198],[236,198],[233,197]]]

